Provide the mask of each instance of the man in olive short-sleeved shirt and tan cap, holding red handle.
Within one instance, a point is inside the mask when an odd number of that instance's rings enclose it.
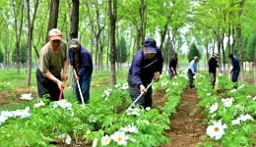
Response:
[[[64,81],[68,78],[68,47],[57,28],[48,32],[48,39],[49,42],[40,50],[39,69],[36,71],[38,97],[48,94],[49,97],[45,98],[57,101],[65,87]],[[64,98],[63,95],[61,98]]]

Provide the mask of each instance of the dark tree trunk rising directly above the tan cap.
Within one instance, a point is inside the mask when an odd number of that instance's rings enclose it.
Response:
[[[50,29],[57,27],[58,13],[59,13],[59,0],[51,0],[47,32]],[[48,35],[46,35],[45,42],[48,42]]]

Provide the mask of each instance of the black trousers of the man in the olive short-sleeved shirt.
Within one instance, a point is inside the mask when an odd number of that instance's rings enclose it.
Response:
[[[55,75],[56,78],[61,80],[60,75]],[[60,90],[58,84],[43,76],[39,69],[36,71],[37,91],[38,97],[43,98],[45,94],[49,95],[51,101],[58,101]],[[64,98],[62,94],[62,99]]]

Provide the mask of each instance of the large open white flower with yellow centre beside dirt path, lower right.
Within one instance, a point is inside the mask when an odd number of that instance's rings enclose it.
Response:
[[[219,140],[224,135],[224,128],[226,128],[226,124],[222,124],[222,121],[214,122],[213,125],[209,125],[207,127],[206,133],[211,137]]]

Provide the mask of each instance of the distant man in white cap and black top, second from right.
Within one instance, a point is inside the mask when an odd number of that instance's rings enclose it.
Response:
[[[213,89],[215,88],[215,82],[216,82],[216,68],[219,68],[218,58],[219,58],[219,54],[215,53],[215,54],[213,54],[212,58],[208,62],[209,75],[211,77]]]

